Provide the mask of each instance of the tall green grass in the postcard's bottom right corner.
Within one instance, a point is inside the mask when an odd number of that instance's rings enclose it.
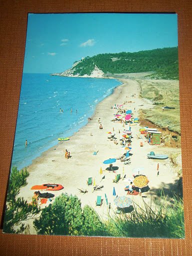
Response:
[[[174,205],[159,204],[154,210],[133,203],[133,211],[110,218],[106,227],[113,236],[184,238],[183,204],[174,198]]]

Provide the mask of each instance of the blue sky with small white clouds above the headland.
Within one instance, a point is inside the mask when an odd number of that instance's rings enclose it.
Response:
[[[173,46],[176,14],[29,13],[23,72],[61,72],[85,56]]]

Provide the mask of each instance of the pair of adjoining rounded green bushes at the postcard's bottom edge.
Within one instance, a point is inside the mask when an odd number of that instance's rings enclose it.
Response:
[[[34,227],[38,234],[103,235],[103,224],[95,211],[88,205],[82,209],[78,197],[66,193],[42,209]]]

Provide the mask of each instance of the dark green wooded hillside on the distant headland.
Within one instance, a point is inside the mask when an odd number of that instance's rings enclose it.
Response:
[[[151,78],[178,79],[178,48],[103,53],[85,57],[71,68],[73,75],[90,75],[94,66],[106,73],[153,71]]]

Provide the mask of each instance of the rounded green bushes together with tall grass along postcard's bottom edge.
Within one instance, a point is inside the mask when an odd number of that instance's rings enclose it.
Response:
[[[133,203],[131,212],[103,221],[88,205],[82,209],[76,196],[61,194],[33,223],[38,234],[183,238],[182,200],[172,200],[173,205],[163,201],[154,210],[144,201],[142,208]]]

